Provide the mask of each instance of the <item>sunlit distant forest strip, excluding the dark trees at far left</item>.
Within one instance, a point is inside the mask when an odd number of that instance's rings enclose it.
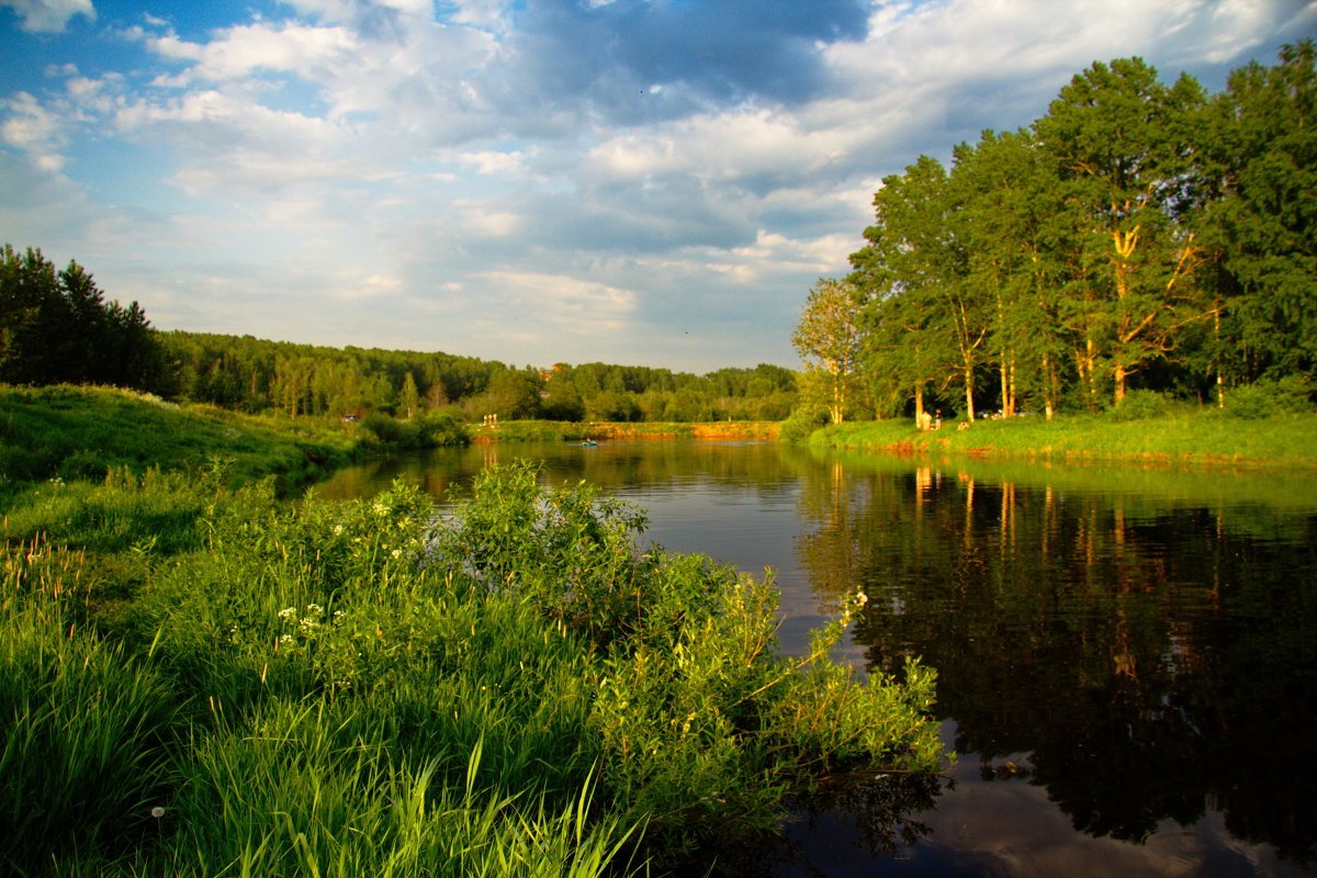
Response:
[[[412,417],[449,409],[466,420],[781,420],[795,374],[780,366],[706,375],[606,363],[515,367],[445,353],[324,348],[187,332],[162,334],[175,395],[248,412]]]

